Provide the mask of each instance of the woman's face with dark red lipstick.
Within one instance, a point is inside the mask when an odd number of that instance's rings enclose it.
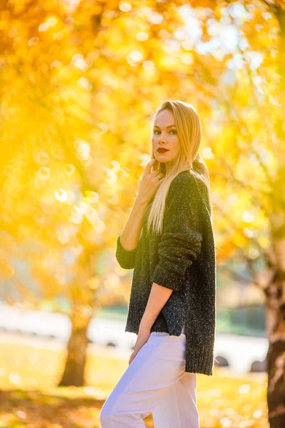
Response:
[[[179,153],[179,140],[177,136],[177,128],[175,126],[174,116],[171,111],[163,110],[157,113],[153,126],[152,148],[155,154],[155,159],[160,163],[170,165],[175,161]],[[160,153],[159,148],[165,148],[167,151]]]

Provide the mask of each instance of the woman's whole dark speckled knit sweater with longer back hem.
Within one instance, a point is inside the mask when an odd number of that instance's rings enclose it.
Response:
[[[173,290],[151,332],[179,336],[185,324],[185,371],[212,375],[216,334],[216,253],[208,188],[190,170],[179,173],[167,193],[163,230],[147,235],[145,213],[137,248],[117,240],[116,258],[133,269],[125,332],[138,335],[152,282]]]

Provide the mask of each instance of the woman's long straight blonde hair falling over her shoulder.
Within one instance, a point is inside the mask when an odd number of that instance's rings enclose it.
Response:
[[[171,168],[165,167],[165,163],[155,161],[152,171],[159,169],[164,175],[165,180],[157,189],[155,197],[150,205],[147,207],[147,233],[152,228],[152,233],[161,234],[163,218],[165,214],[165,202],[167,193],[170,188],[172,180],[181,173],[183,170],[190,170],[195,176],[202,178],[208,188],[208,206],[212,221],[212,200],[210,197],[210,183],[209,171],[207,165],[204,163],[202,156],[199,155],[199,146],[202,138],[202,126],[199,120],[198,113],[190,103],[185,101],[165,101],[161,106],[157,107],[152,113],[152,129],[151,129],[151,143],[150,143],[150,156],[155,158],[152,148],[153,125],[155,117],[160,111],[169,110],[175,118],[175,125],[177,127],[177,135],[180,141],[180,151],[177,156],[175,165]]]

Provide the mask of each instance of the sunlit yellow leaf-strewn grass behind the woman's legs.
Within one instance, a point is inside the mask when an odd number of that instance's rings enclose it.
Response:
[[[61,345],[1,342],[0,428],[100,428],[103,402],[128,368],[128,357],[114,352],[92,347],[86,386],[56,387],[66,360]],[[268,428],[266,388],[266,373],[215,367],[211,377],[197,374],[200,428]],[[153,427],[151,414],[145,423]]]

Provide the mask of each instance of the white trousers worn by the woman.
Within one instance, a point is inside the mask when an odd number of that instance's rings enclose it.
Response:
[[[184,334],[152,332],[100,412],[102,428],[199,428],[197,374],[185,372]]]

